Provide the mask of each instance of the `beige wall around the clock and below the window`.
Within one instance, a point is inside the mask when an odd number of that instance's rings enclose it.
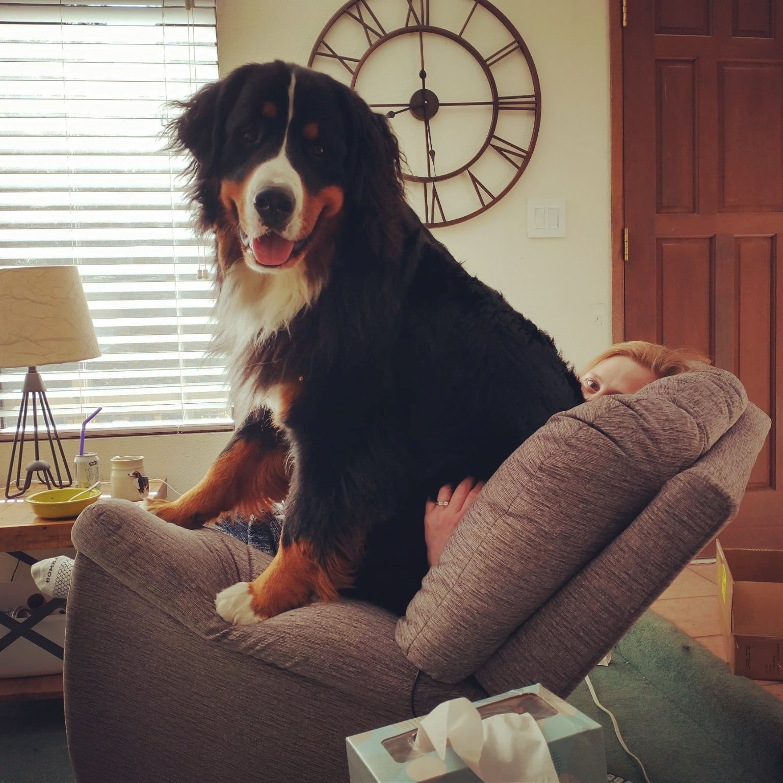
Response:
[[[221,72],[274,58],[307,62],[313,41],[342,0],[218,0]],[[543,113],[521,180],[482,215],[435,234],[471,272],[552,334],[577,366],[611,342],[609,57],[605,0],[496,0],[536,63]],[[566,201],[567,236],[526,236],[526,200]],[[101,438],[108,460],[139,453],[147,473],[183,491],[204,474],[229,433]],[[67,454],[74,441],[67,442]],[[0,467],[9,444],[0,444]],[[2,558],[0,558],[2,561]],[[0,579],[4,568],[0,564]]]

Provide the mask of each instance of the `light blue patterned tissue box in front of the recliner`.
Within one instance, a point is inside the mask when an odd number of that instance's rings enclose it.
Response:
[[[601,724],[542,685],[530,685],[474,702],[482,718],[530,713],[539,724],[561,783],[606,783]],[[413,742],[422,718],[394,723],[345,740],[351,783],[478,781],[449,746],[446,759],[424,753]]]

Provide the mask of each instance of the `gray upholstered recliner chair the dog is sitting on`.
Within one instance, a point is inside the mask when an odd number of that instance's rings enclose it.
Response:
[[[568,696],[734,516],[768,428],[713,368],[557,414],[402,619],[338,601],[229,626],[215,594],[269,557],[127,501],[88,507],[65,657],[77,780],[345,781],[345,737],[412,705],[535,682]]]

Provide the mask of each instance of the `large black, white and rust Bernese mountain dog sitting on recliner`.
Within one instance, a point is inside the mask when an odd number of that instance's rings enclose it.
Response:
[[[285,501],[272,563],[218,594],[229,622],[341,593],[402,614],[428,570],[425,500],[489,478],[579,381],[422,225],[386,117],[351,89],[252,63],[180,106],[239,424],[199,484],[148,508],[193,528]]]

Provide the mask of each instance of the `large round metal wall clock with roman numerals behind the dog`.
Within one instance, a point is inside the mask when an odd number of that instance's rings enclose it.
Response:
[[[422,221],[480,215],[525,171],[541,90],[525,41],[488,0],[349,0],[312,48],[309,67],[386,114]]]

